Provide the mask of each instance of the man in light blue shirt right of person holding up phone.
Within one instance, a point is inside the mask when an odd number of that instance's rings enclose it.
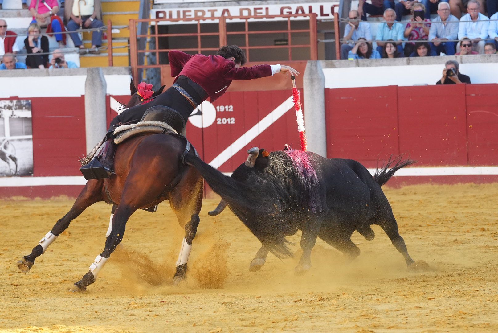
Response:
[[[444,52],[446,55],[454,55],[458,37],[458,18],[450,14],[450,5],[448,2],[439,2],[437,6],[438,17],[434,18],[429,29],[429,40],[431,48],[440,55]]]

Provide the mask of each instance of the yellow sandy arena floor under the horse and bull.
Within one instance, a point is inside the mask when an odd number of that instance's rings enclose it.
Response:
[[[258,241],[230,211],[208,216],[209,199],[186,286],[171,287],[183,230],[163,203],[131,217],[124,250],[84,294],[67,290],[102,251],[111,206],[90,207],[22,274],[16,261],[72,200],[0,201],[0,332],[497,332],[498,183],[384,190],[429,271],[408,271],[374,226],[373,241],[353,235],[352,264],[318,240],[304,277],[293,275],[298,257],[271,254],[250,273]]]

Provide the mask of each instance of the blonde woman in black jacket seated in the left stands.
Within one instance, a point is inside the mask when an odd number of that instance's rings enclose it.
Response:
[[[48,64],[48,38],[41,35],[40,26],[36,23],[29,24],[28,36],[24,39],[26,46],[26,65],[30,68],[45,68]],[[45,54],[38,54],[45,53]]]

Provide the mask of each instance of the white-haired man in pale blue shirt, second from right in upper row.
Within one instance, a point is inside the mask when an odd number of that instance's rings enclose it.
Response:
[[[484,54],[484,44],[486,44],[485,39],[488,38],[490,19],[481,14],[479,8],[478,0],[469,0],[467,4],[469,13],[463,15],[460,19],[458,39],[462,40],[464,37],[472,39],[474,51]],[[460,45],[457,45],[457,48],[460,48]]]

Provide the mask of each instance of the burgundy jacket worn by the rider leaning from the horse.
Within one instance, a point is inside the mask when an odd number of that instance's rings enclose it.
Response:
[[[185,75],[208,93],[211,102],[223,95],[233,80],[271,76],[270,65],[235,68],[235,62],[220,55],[190,55],[169,51],[168,58],[171,76]]]

